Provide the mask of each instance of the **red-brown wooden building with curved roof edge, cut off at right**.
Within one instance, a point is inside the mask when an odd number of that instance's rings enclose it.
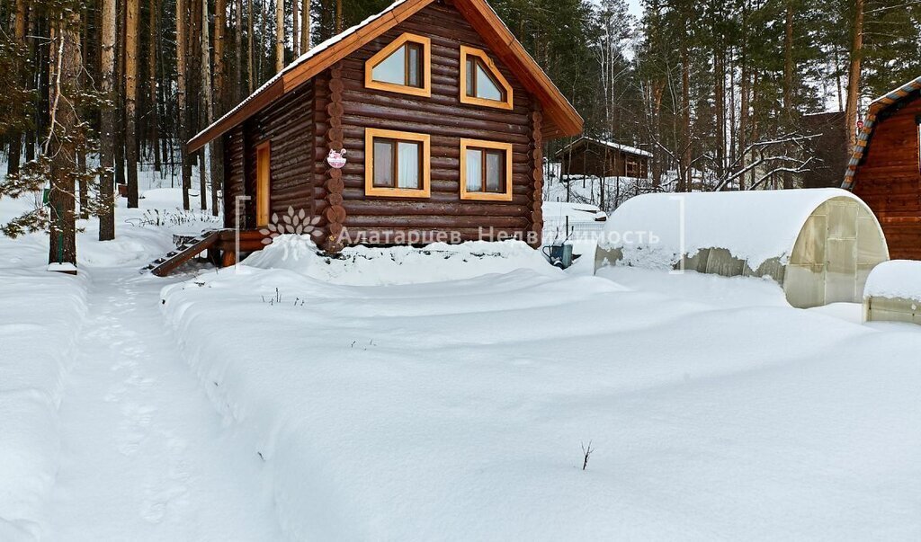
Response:
[[[892,259],[921,259],[921,77],[874,100],[845,171],[876,214]]]

